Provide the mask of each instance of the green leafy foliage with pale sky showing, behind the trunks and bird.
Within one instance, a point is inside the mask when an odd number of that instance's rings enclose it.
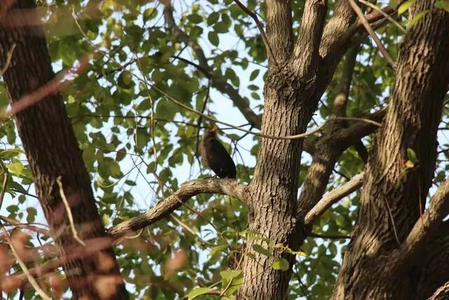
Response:
[[[196,67],[198,57],[192,48],[170,32],[164,22],[162,2],[55,0],[41,1],[39,6],[55,70],[66,70],[91,53],[88,71],[61,92],[107,227],[154,206],[189,178],[211,176],[198,151],[209,122],[192,110],[236,126],[248,123],[233,107],[232,99],[214,89],[210,76]],[[400,14],[407,15],[410,2],[399,7]],[[334,4],[331,1],[329,14]],[[249,0],[247,6],[264,20],[264,4]],[[297,29],[304,1],[293,1],[292,6]],[[448,10],[447,1],[438,1],[436,6]],[[190,41],[199,42],[211,74],[231,84],[255,112],[262,112],[267,56],[253,20],[232,0],[203,0],[176,3],[175,21]],[[403,25],[406,22],[406,18],[401,19]],[[297,30],[294,32],[297,34]],[[395,58],[403,32],[387,25],[378,34]],[[315,118],[318,123],[330,115],[341,68],[320,103]],[[363,40],[358,47],[347,115],[361,117],[388,103],[393,82],[394,72],[372,41]],[[0,108],[6,105],[7,92],[2,83]],[[448,121],[448,113],[446,105],[444,122]],[[43,223],[13,118],[2,125],[1,182],[6,174],[9,180],[1,215],[26,223]],[[449,170],[449,142],[444,136],[447,123],[442,130],[436,183]],[[239,181],[248,183],[258,138],[236,130],[220,134],[238,164]],[[371,142],[370,136],[363,140],[368,148]],[[408,155],[413,162],[412,151]],[[303,161],[301,178],[310,163],[309,156],[304,155]],[[349,148],[340,157],[328,189],[344,183],[363,167],[357,152]],[[358,197],[353,193],[327,211],[314,226],[314,233],[349,235]],[[242,281],[239,258],[245,255],[241,252],[248,238],[246,221],[246,207],[238,200],[217,195],[194,197],[172,216],[116,247],[128,291],[135,299],[209,299],[217,294],[229,299]],[[36,237],[36,233],[32,235]],[[36,238],[31,242],[39,247]],[[344,239],[307,238],[301,249],[303,255],[297,256],[294,266],[289,299],[328,296],[345,244]],[[289,249],[281,246],[258,246],[254,251],[275,255],[272,267],[287,270],[288,261],[281,254]],[[185,250],[188,259],[168,276],[165,266],[179,249]],[[25,298],[34,299],[36,295],[27,292]]]

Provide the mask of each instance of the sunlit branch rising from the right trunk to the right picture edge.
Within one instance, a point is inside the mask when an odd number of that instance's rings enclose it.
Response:
[[[449,214],[449,178],[441,183],[432,197],[429,209],[424,213],[422,218],[416,221],[415,226],[408,234],[406,241],[401,247],[404,256],[410,257],[418,252],[429,236],[434,233],[436,228],[443,222],[443,219]]]

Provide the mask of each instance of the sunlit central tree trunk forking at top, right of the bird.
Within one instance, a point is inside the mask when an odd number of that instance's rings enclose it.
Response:
[[[300,30],[302,37],[293,48],[290,1],[267,1],[267,28],[274,58],[269,58],[269,76],[264,85],[261,130],[265,135],[292,136],[306,130],[318,103],[313,96],[325,15],[324,1],[307,2]],[[264,239],[247,241],[246,253],[250,255],[243,258],[241,299],[286,297],[295,256],[276,253],[274,246],[281,243],[296,249],[303,240],[301,222],[297,219],[301,152],[302,139],[261,138],[249,187],[248,230],[260,233]],[[256,244],[274,250],[273,256],[255,252]],[[288,261],[288,270],[272,267],[279,256]]]

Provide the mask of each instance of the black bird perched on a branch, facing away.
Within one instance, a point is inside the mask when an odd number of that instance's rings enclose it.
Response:
[[[201,155],[218,177],[236,178],[236,165],[225,147],[217,140],[217,130],[217,126],[207,129],[201,143]]]

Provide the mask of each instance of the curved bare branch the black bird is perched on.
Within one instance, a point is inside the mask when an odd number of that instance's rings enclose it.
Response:
[[[234,179],[208,178],[187,181],[173,195],[159,201],[155,207],[144,214],[110,228],[108,234],[112,237],[120,237],[128,232],[152,225],[181,207],[191,197],[201,193],[229,195],[243,202],[248,200],[248,187]]]

